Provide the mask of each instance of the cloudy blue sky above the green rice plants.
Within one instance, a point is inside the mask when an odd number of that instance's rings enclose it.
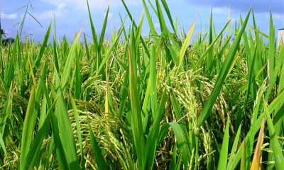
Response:
[[[36,42],[43,40],[50,22],[55,16],[55,30],[58,38],[66,36],[68,40],[73,40],[75,33],[82,30],[87,35],[87,40],[92,40],[91,27],[87,11],[87,2],[84,0],[30,0],[28,12],[36,18],[38,24],[32,16],[27,16],[23,25],[23,37]],[[1,28],[4,29],[6,37],[15,37],[26,11],[28,0],[1,0]],[[138,23],[143,12],[143,4],[140,0],[125,0],[134,20]],[[152,1],[155,5],[155,1]],[[173,18],[177,18],[178,25],[186,31],[190,28],[196,18],[194,33],[200,33],[209,28],[209,16],[211,8],[213,11],[213,21],[216,30],[221,30],[228,20],[230,11],[231,27],[235,22],[239,22],[239,16],[243,18],[252,6],[256,16],[258,28],[268,34],[270,11],[273,14],[275,30],[284,28],[284,0],[167,0]],[[118,30],[121,26],[119,15],[126,17],[126,10],[120,0],[89,0],[89,6],[97,33],[102,29],[104,16],[109,6],[109,17],[107,22],[106,37],[110,38],[111,30]],[[151,9],[149,5],[148,8]],[[158,18],[151,11],[155,28],[159,29]],[[148,24],[146,15],[144,16],[142,34],[147,35]],[[131,22],[126,21],[126,26]],[[167,21],[168,28],[170,23]],[[252,17],[249,25],[252,26]],[[53,27],[54,29],[54,27]],[[53,35],[54,30],[51,35]],[[52,37],[52,36],[50,36]]]

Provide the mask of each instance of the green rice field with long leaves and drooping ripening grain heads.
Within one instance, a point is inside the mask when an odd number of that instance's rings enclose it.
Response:
[[[1,44],[0,169],[283,169],[272,16],[268,35],[251,9],[193,35],[194,18],[185,31],[165,0],[142,1],[139,21],[122,1],[131,26],[107,40],[109,10],[97,30],[88,5],[92,42],[48,41],[50,23],[41,43]]]

